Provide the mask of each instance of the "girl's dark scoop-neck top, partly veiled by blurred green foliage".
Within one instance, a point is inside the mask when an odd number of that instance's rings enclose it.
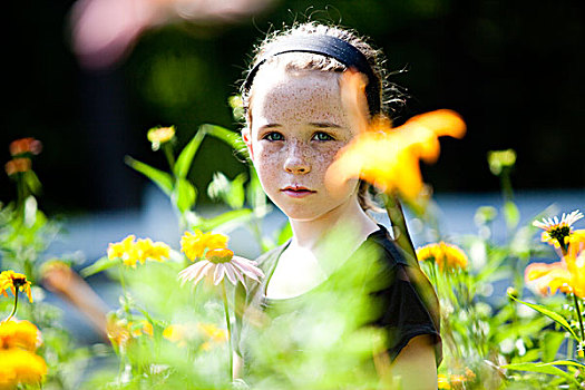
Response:
[[[309,330],[319,329],[323,322],[324,329],[338,326],[339,334],[326,330],[322,339],[332,337],[328,345],[340,350],[347,342],[340,347],[335,338],[355,340],[355,335],[348,334],[359,332],[360,328],[381,331],[383,349],[391,360],[412,338],[428,334],[435,341],[439,365],[442,352],[435,289],[418,261],[399,250],[386,227],[379,226],[323,283],[295,298],[266,298],[267,284],[290,241],[257,259],[264,280],[261,283],[247,280],[246,289],[238,284],[235,296],[233,340],[235,350],[244,358],[245,372],[254,371],[256,363],[263,365],[259,362],[261,355],[274,353],[271,359],[286,360],[291,354],[311,350],[314,342],[303,344],[302,339],[314,337]],[[319,344],[321,339],[316,341]]]

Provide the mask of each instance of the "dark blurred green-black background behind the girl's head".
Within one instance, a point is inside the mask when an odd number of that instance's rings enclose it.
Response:
[[[584,187],[582,1],[277,1],[237,19],[146,28],[101,69],[81,66],[71,50],[74,4],[32,0],[6,13],[0,159],[16,138],[43,143],[33,168],[49,213],[138,207],[148,182],[124,156],[166,167],[146,130],[175,125],[179,146],[204,123],[237,130],[227,98],[252,46],[308,19],[357,29],[384,51],[389,70],[408,70],[390,78],[409,96],[397,124],[437,108],[464,116],[466,138],[443,139],[439,162],[423,168],[436,192],[497,191],[486,154],[503,148],[518,153],[518,189]],[[204,143],[191,176],[199,204],[213,172],[244,170],[225,145]],[[1,174],[0,202],[13,196]]]

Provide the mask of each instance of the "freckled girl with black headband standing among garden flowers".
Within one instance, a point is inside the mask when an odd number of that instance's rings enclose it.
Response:
[[[373,353],[378,373],[400,376],[403,389],[437,389],[438,302],[433,292],[428,298],[428,280],[367,214],[372,208],[368,184],[325,181],[338,152],[359,131],[341,98],[341,80],[350,69],[367,80],[373,120],[387,100],[380,55],[340,28],[304,23],[265,40],[242,86],[244,142],[263,189],[289,217],[293,235],[259,259],[263,283],[236,292],[234,376],[243,374],[243,364],[254,364],[245,350],[245,328],[257,319],[250,313],[270,314],[271,306],[311,296],[334,277],[349,275],[349,264],[373,250],[382,267],[371,295],[381,310],[370,323],[388,335],[383,350]],[[348,227],[332,255],[326,237]]]

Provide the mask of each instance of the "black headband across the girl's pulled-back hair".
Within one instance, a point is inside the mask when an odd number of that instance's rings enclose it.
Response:
[[[331,36],[311,35],[311,36],[289,36],[270,45],[264,55],[256,62],[254,68],[250,70],[244,81],[244,90],[248,91],[252,87],[252,81],[256,76],[259,68],[270,57],[282,55],[285,52],[311,52],[331,57],[347,66],[354,68],[361,74],[368,76],[368,85],[365,86],[365,96],[368,98],[368,107],[370,114],[377,115],[380,113],[380,79],[373,74],[373,70],[368,62],[365,56],[353,45]]]

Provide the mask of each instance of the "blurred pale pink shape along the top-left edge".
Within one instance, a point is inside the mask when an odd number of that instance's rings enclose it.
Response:
[[[157,26],[231,23],[265,9],[272,0],[78,0],[71,8],[72,48],[81,66],[107,68],[119,61],[139,35]]]

